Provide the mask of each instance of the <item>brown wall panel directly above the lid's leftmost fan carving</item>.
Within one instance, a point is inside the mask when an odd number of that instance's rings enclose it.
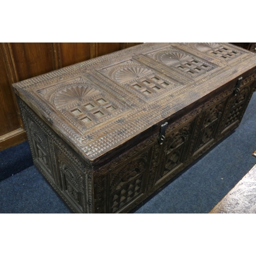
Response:
[[[90,59],[90,42],[61,42],[59,47],[62,67]]]

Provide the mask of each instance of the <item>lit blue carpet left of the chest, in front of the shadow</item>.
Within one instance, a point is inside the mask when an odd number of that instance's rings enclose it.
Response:
[[[0,182],[0,213],[71,213],[35,166]]]

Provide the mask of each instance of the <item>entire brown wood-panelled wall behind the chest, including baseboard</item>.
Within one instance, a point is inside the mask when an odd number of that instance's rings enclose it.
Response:
[[[0,150],[27,139],[12,83],[138,44],[141,43],[0,43]]]

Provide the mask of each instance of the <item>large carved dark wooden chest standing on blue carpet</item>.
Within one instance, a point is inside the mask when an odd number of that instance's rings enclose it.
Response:
[[[148,43],[13,87],[59,196],[74,212],[119,213],[239,125],[255,72],[256,55],[230,44]]]

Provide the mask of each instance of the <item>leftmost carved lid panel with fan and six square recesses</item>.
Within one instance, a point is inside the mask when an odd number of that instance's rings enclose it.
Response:
[[[83,76],[36,93],[80,135],[131,110]]]

